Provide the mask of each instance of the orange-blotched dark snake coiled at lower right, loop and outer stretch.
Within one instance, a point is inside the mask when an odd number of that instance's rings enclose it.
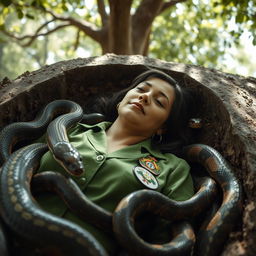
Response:
[[[199,231],[197,236],[197,255],[217,256],[227,240],[242,212],[242,189],[233,170],[219,152],[204,144],[192,144],[184,147],[184,158],[189,162],[203,165],[209,176],[214,179],[222,190],[222,204],[216,210],[209,222]],[[118,204],[113,213],[113,227],[116,238],[131,253],[131,255],[189,255],[192,243],[186,247],[176,249],[178,244],[172,240],[165,244],[151,244],[141,238],[135,229],[136,218],[147,210],[169,220],[177,221],[196,216],[203,211],[209,199],[209,194],[195,200],[201,195],[200,190],[189,200],[176,202],[157,191],[136,191],[126,196]],[[203,200],[201,200],[203,199]],[[211,200],[210,200],[211,201]],[[208,202],[210,202],[208,201]],[[193,203],[191,203],[193,202]],[[193,240],[192,231],[187,234],[187,242]],[[185,237],[185,235],[184,235]],[[184,241],[186,241],[184,239]],[[184,250],[184,251],[183,251]]]

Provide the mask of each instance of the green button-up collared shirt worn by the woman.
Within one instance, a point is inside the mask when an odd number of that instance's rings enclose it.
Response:
[[[78,124],[69,132],[69,140],[80,152],[85,172],[73,177],[88,199],[104,209],[113,212],[118,202],[131,192],[147,188],[134,175],[133,169],[139,166],[139,159],[153,156],[157,159],[160,174],[157,191],[174,200],[186,200],[193,193],[193,182],[187,162],[173,154],[163,154],[153,149],[150,139],[127,146],[112,153],[106,152],[105,130],[111,125],[102,122],[97,125]],[[41,160],[39,172],[67,172],[54,160],[48,151]],[[83,222],[71,213],[57,197],[39,198],[41,206],[47,211],[72,220],[91,232],[107,250],[112,251],[114,243],[109,235]]]

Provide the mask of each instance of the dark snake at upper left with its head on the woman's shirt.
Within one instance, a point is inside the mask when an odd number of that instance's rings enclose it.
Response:
[[[30,141],[42,136],[46,139],[54,158],[71,175],[79,176],[84,166],[79,152],[69,143],[67,129],[83,118],[81,106],[70,100],[55,100],[46,105],[35,120],[15,122],[4,127],[0,133],[0,164],[12,149],[24,139]]]

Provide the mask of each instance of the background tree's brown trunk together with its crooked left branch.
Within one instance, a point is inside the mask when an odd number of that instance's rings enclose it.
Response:
[[[108,0],[108,6],[105,5],[104,0],[97,0],[101,26],[86,18],[83,20],[74,18],[70,14],[69,16],[59,15],[54,10],[43,8],[42,14],[49,15],[52,19],[45,20],[32,34],[17,36],[10,31],[4,31],[4,33],[19,41],[23,47],[28,47],[38,37],[48,36],[60,29],[72,26],[78,30],[78,38],[79,32],[83,32],[99,43],[103,54],[146,55],[154,19],[164,10],[185,1],[187,0],[141,0],[138,1],[138,6],[132,9],[133,0]],[[37,8],[29,4],[28,6]],[[42,32],[43,30],[46,32]],[[74,47],[77,46],[76,38]]]

